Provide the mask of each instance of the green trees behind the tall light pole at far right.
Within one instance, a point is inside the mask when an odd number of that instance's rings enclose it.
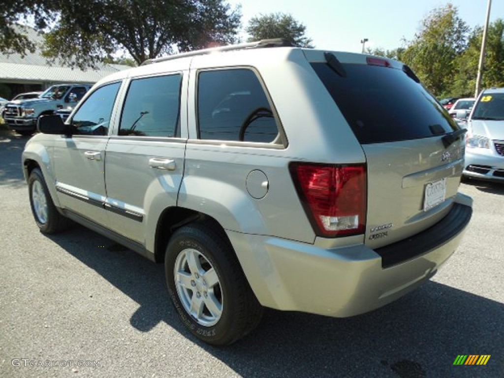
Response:
[[[476,87],[483,28],[476,27],[467,49],[457,57],[457,71],[451,92],[454,96],[472,97]],[[482,88],[504,87],[504,21],[497,19],[488,26],[483,66]]]

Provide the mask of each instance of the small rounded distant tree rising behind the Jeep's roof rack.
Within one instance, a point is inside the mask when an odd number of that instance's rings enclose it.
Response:
[[[290,14],[260,14],[248,21],[245,31],[250,35],[248,41],[285,38],[301,47],[313,47],[312,40],[304,35],[306,27]]]

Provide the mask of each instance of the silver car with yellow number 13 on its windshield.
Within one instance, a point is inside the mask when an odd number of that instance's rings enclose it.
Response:
[[[504,181],[504,88],[480,93],[467,130],[464,175]]]

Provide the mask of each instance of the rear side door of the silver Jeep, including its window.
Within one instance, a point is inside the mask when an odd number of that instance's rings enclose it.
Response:
[[[182,72],[132,78],[106,149],[108,228],[149,250],[147,232],[177,203],[187,139],[184,87]]]

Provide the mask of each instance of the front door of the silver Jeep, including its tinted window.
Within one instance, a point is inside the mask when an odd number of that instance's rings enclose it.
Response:
[[[120,82],[96,89],[70,121],[74,135],[55,140],[56,190],[62,207],[97,223],[106,222],[105,147]]]

